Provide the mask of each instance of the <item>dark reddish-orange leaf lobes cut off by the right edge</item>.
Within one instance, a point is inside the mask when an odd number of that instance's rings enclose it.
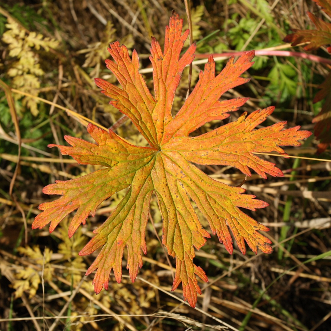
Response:
[[[322,10],[331,17],[331,0],[313,0]],[[310,20],[315,24],[316,30],[298,30],[292,29],[294,33],[287,35],[285,42],[291,42],[292,46],[308,42],[304,47],[306,51],[318,49],[323,45],[331,44],[331,23],[325,22],[316,17],[314,14],[307,12]],[[331,46],[327,48],[331,53]],[[325,98],[324,105],[320,113],[313,118],[312,122],[316,123],[314,133],[320,143],[317,146],[317,153],[324,152],[328,146],[331,146],[331,73],[327,75],[325,81],[319,85],[321,89],[315,96],[313,102],[321,101]]]

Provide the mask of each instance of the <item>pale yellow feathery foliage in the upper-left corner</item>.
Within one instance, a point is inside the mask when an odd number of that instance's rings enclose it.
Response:
[[[35,51],[40,50],[41,47],[45,51],[49,51],[50,48],[57,48],[59,42],[34,31],[27,33],[10,17],[6,27],[8,30],[2,35],[2,41],[8,44],[8,55],[18,59],[11,64],[7,71],[7,74],[13,77],[12,87],[38,96],[40,77],[43,76],[44,71],[40,68],[39,55]],[[18,94],[14,94],[14,97],[16,100],[23,98],[23,106],[30,109],[34,116],[38,114],[38,100]]]

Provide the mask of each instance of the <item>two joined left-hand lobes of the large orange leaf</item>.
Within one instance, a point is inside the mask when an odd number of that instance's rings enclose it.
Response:
[[[72,147],[54,144],[49,147],[59,147],[63,155],[71,155],[79,164],[107,168],[76,179],[57,180],[56,184],[44,187],[43,193],[61,194],[62,197],[39,205],[38,208],[44,212],[36,216],[32,229],[42,228],[51,222],[49,230],[52,232],[64,217],[78,209],[69,226],[69,237],[72,237],[80,223],[85,224],[90,213],[95,215],[101,202],[128,187],[132,183],[135,169],[145,166],[153,158],[155,149],[130,145],[111,130],[108,133],[89,124],[87,131],[97,145],[65,136]]]

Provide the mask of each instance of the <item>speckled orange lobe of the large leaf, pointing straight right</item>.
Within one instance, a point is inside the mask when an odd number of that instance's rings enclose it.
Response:
[[[282,130],[286,121],[253,130],[270,115],[275,107],[255,111],[247,118],[246,113],[235,122],[223,125],[198,137],[173,137],[163,145],[165,151],[178,151],[188,161],[203,165],[234,166],[250,176],[248,167],[263,178],[266,173],[282,177],[283,173],[271,162],[260,159],[254,152],[285,152],[278,146],[300,146],[298,140],[307,137],[307,131],[299,126]]]

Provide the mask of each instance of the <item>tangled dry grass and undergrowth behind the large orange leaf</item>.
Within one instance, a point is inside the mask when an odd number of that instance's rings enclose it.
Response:
[[[45,185],[98,168],[62,157],[56,149],[47,148],[49,143],[66,144],[65,134],[90,139],[86,124],[92,120],[112,126],[133,144],[147,145],[135,126],[108,104],[93,78],[117,83],[104,60],[109,56],[108,44],[119,40],[129,51],[137,50],[144,78],[153,90],[150,36],[163,43],[172,10],[187,22],[184,4],[178,0],[0,2],[0,79],[11,89],[21,136],[18,139],[8,94],[0,89],[1,330],[217,330],[220,319],[233,330],[330,329],[331,168],[323,161],[330,159],[330,151],[316,157],[318,141],[313,137],[287,152],[316,160],[293,162],[263,156],[277,163],[285,178],[264,181],[253,174],[243,184],[248,193],[270,204],[252,215],[271,228],[268,235],[275,244],[274,254],[242,256],[235,250],[229,256],[214,236],[197,252],[196,259],[210,279],[208,285],[202,284],[200,310],[183,304],[180,290],[170,292],[174,261],[167,258],[160,243],[162,219],[154,198],[146,232],[148,255],[139,277],[132,284],[124,272],[121,284],[112,278],[109,290],[98,296],[92,277],[84,276],[94,256],[79,257],[77,252],[125,192],[105,201],[71,239],[67,221],[51,235],[47,229],[30,229],[39,213],[37,206],[50,200],[41,192]],[[191,1],[197,42],[192,86],[206,54],[294,50],[282,40],[290,27],[311,25],[306,11],[323,15],[314,2],[304,0]],[[327,57],[323,50],[313,53]],[[216,62],[217,71],[225,61]],[[288,120],[289,126],[312,130],[312,118],[323,105],[323,100],[313,104],[313,97],[328,71],[328,64],[299,57],[257,56],[253,68],[245,73],[251,81],[225,94],[250,97],[241,111],[231,114],[231,120],[243,111],[276,105],[265,125]],[[173,115],[185,100],[187,81],[185,70]],[[219,125],[219,121],[207,123],[193,134]],[[18,144],[22,146],[19,160]],[[20,167],[14,175],[17,162]],[[240,185],[244,179],[227,167],[201,168],[227,184]],[[9,194],[11,183],[26,229]]]

